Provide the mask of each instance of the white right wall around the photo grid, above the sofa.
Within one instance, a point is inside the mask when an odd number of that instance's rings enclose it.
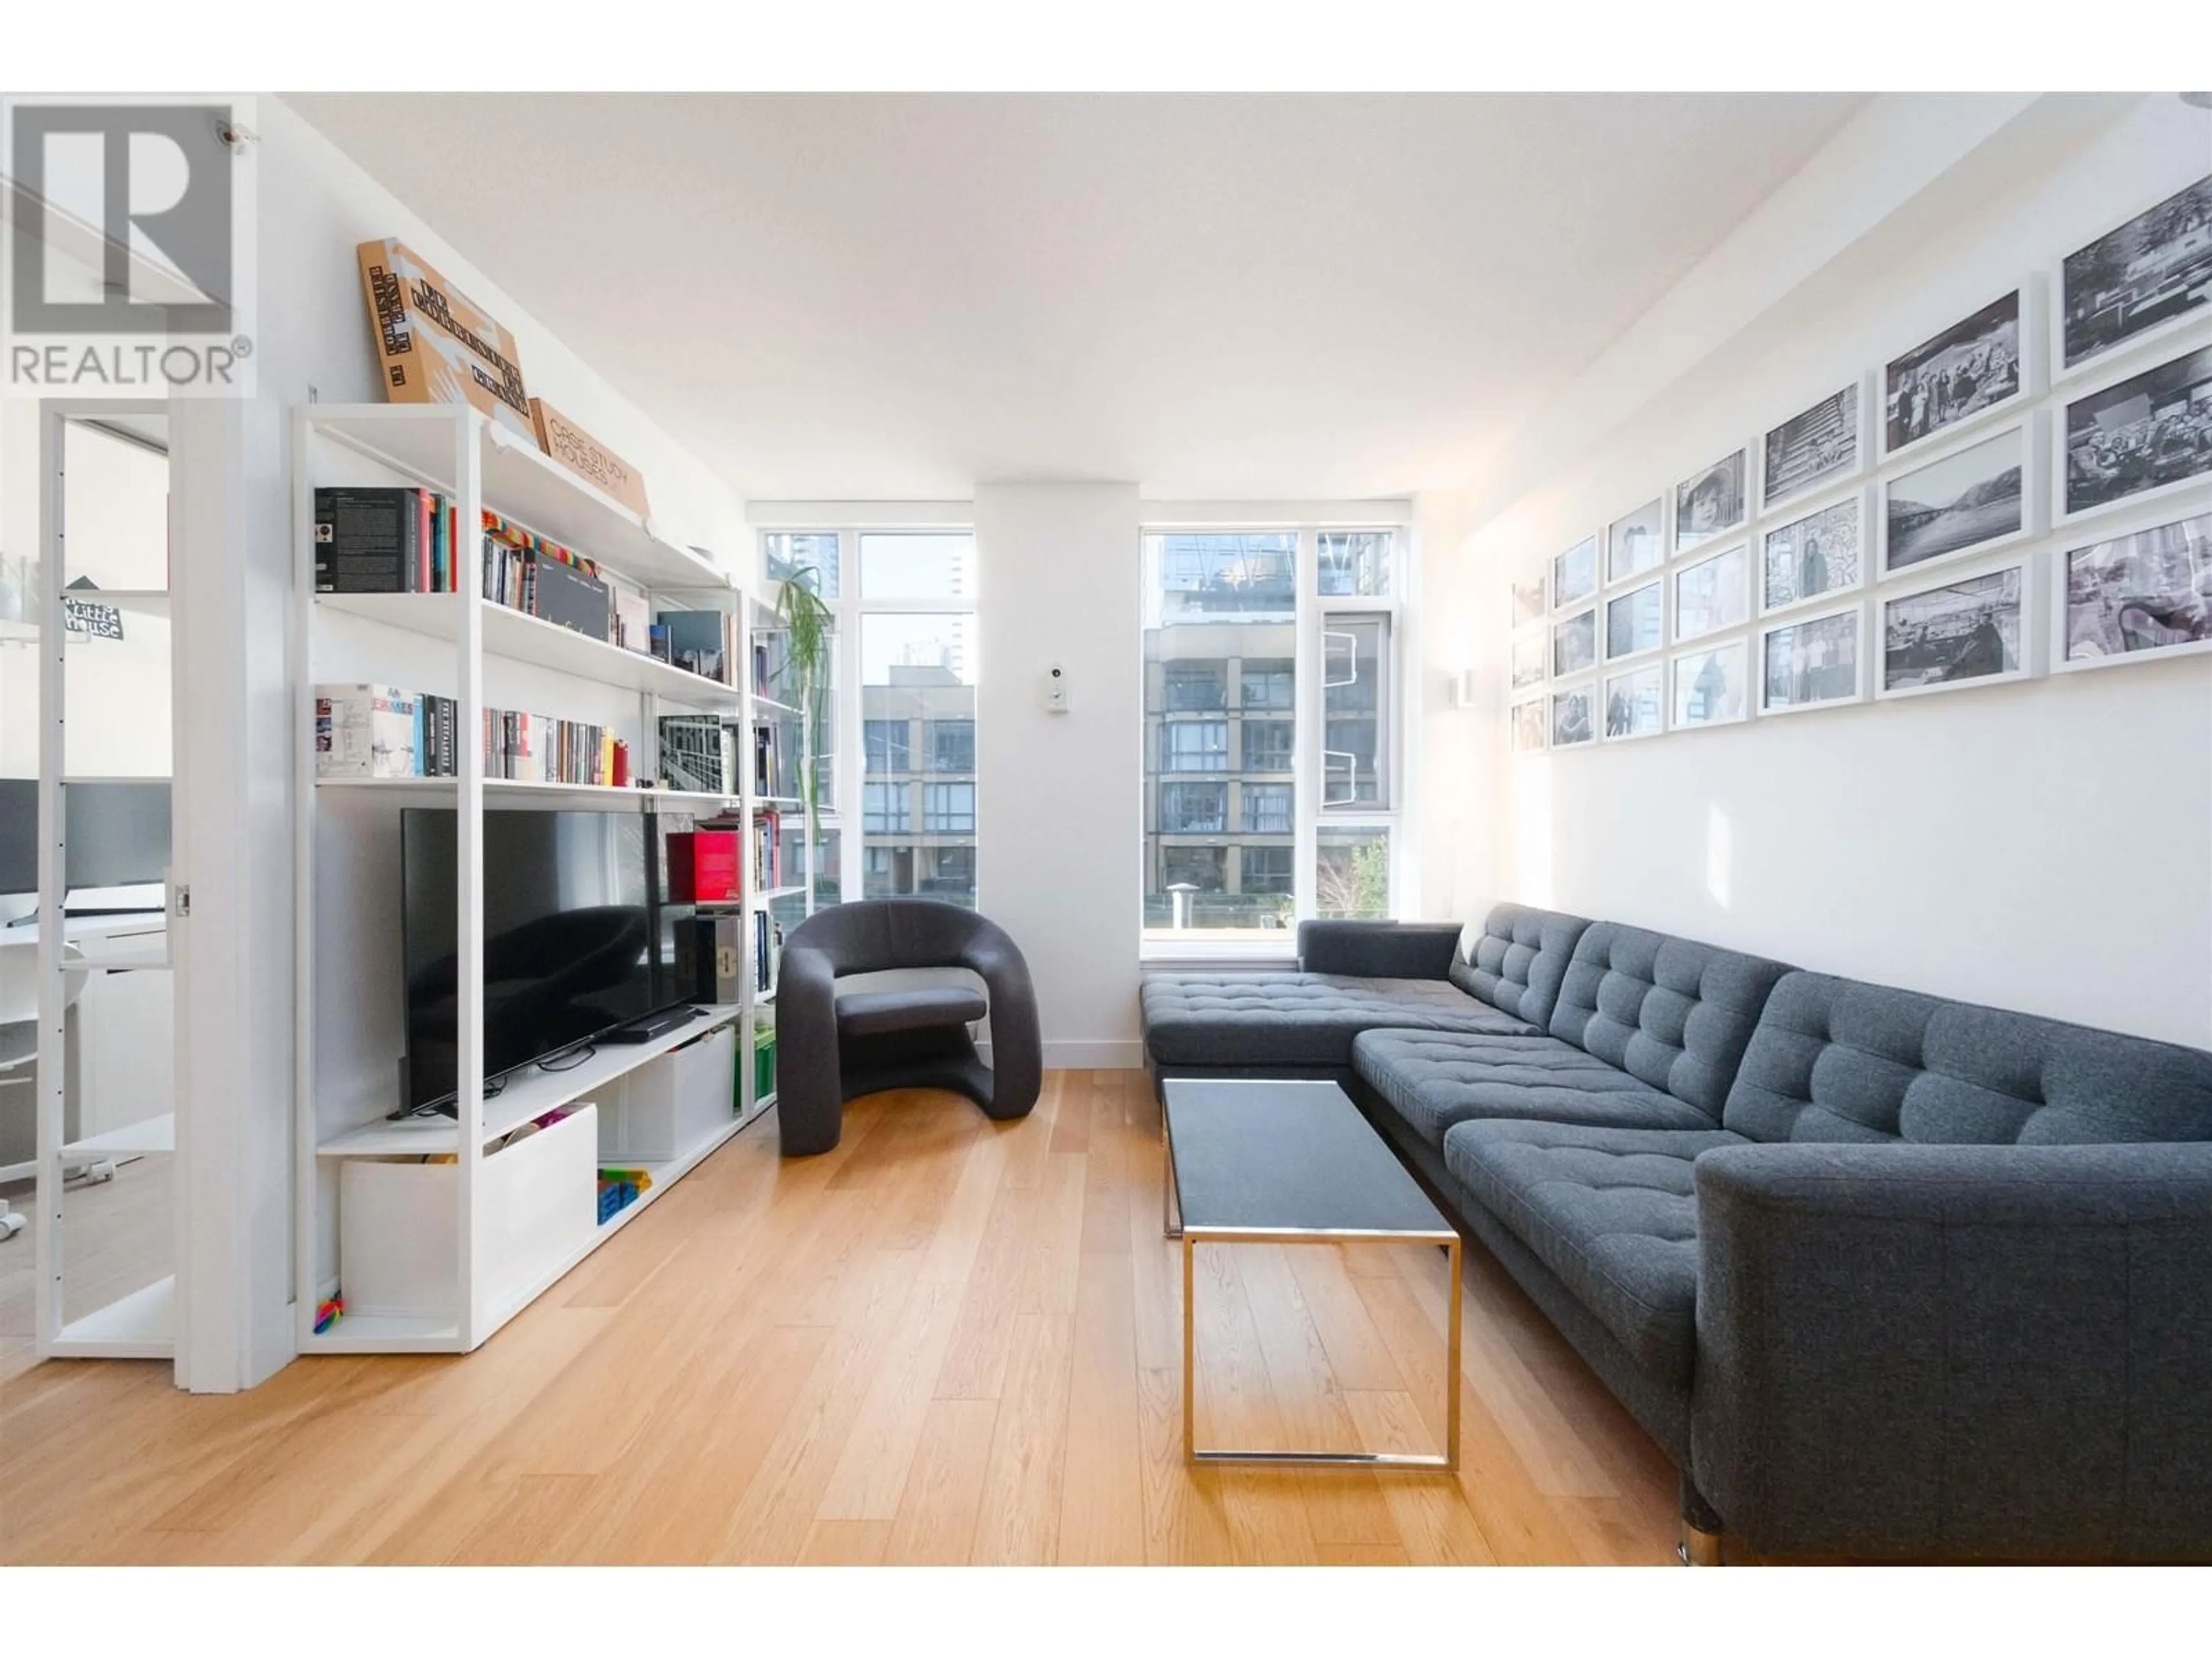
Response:
[[[2046,272],[2208,155],[2212,115],[2172,97],[2033,111],[1916,179],[1694,369],[1624,396],[1615,429],[1524,471],[1462,553],[1491,741],[1513,575]],[[1455,891],[1460,914],[1522,898],[2212,1046],[2212,659],[1500,757],[1491,796],[1438,830],[1506,827],[1493,891]]]

